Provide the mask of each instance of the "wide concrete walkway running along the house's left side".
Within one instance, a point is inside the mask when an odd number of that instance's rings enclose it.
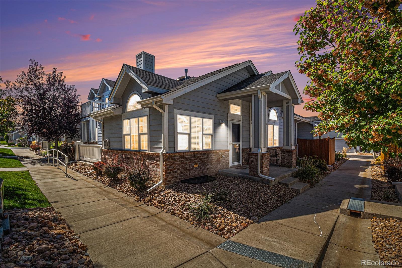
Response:
[[[176,267],[208,254],[224,238],[193,227],[68,169],[69,177],[29,150],[15,151],[43,194],[88,245],[96,267]],[[35,165],[32,165],[35,163]]]

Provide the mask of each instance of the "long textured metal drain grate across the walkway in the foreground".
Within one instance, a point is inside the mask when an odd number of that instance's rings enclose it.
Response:
[[[217,248],[284,268],[312,268],[314,266],[314,263],[312,262],[294,259],[231,240],[223,242],[222,244],[218,245]]]

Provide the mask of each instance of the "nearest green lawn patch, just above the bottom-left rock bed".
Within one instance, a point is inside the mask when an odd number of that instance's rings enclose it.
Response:
[[[2,171],[4,208],[36,208],[51,206],[32,179],[29,171]]]

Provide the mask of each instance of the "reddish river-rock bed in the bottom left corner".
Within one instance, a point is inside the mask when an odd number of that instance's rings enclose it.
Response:
[[[0,268],[93,268],[87,247],[53,207],[9,210]]]

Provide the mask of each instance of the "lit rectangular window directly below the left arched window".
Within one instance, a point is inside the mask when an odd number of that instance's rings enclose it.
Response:
[[[123,120],[123,143],[125,150],[148,150],[147,116]]]

